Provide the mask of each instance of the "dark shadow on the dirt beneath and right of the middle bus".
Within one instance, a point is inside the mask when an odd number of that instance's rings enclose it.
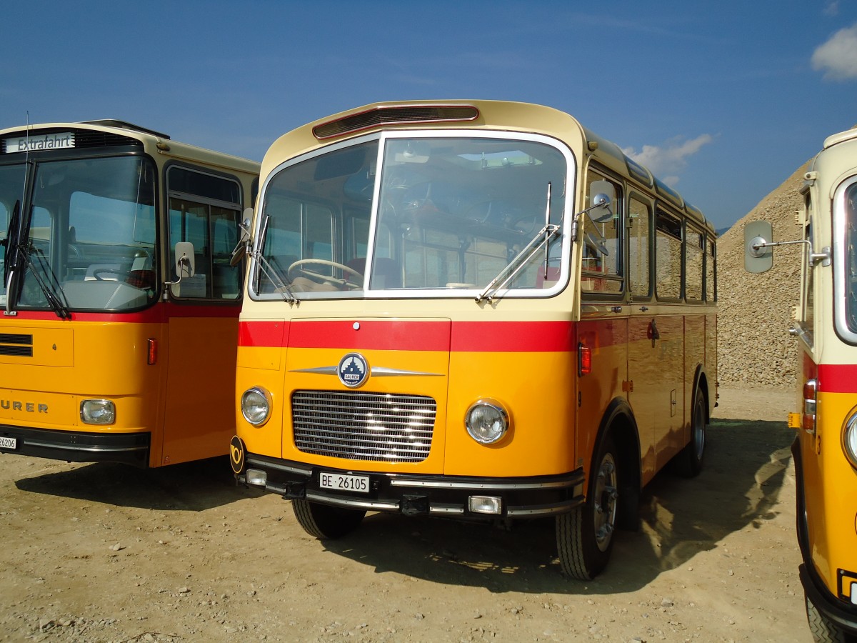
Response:
[[[553,520],[495,526],[374,514],[327,550],[374,567],[491,592],[632,592],[711,550],[730,533],[776,516],[794,433],[782,422],[716,421],[698,478],[659,474],[641,499],[641,528],[618,532],[596,580],[566,580],[556,560]]]

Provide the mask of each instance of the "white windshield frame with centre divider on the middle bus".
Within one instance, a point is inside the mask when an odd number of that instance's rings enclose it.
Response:
[[[280,163],[279,165],[275,166],[273,170],[268,173],[267,177],[265,177],[265,182],[261,186],[259,195],[259,206],[257,209],[258,214],[254,222],[253,250],[251,252],[249,279],[247,282],[248,294],[251,299],[255,301],[283,301],[284,298],[287,298],[281,292],[264,292],[260,291],[261,288],[257,289],[256,287],[256,284],[260,283],[259,279],[261,268],[258,256],[261,256],[261,253],[265,246],[266,240],[265,238],[263,238],[263,231],[266,227],[266,207],[273,181],[275,181],[277,177],[280,177],[282,172],[288,171],[290,167],[303,163],[304,161],[318,159],[323,155],[347,150],[350,147],[356,147],[361,144],[376,142],[378,147],[377,157],[375,159],[375,173],[372,179],[374,184],[372,189],[372,201],[370,206],[371,212],[369,213],[369,240],[366,249],[366,264],[367,266],[372,266],[375,263],[375,255],[377,254],[377,249],[375,246],[378,237],[377,231],[379,230],[379,225],[382,216],[380,213],[379,202],[381,197],[381,177],[384,170],[385,154],[387,151],[387,147],[392,142],[401,141],[403,139],[496,139],[500,141],[521,141],[522,143],[536,143],[546,145],[555,150],[556,152],[560,153],[562,159],[564,159],[565,161],[565,174],[562,177],[563,183],[561,185],[552,186],[554,192],[554,199],[552,199],[553,207],[550,212],[551,223],[560,226],[560,230],[558,232],[559,236],[553,242],[557,244],[555,247],[558,249],[558,252],[554,251],[553,249],[551,250],[552,260],[560,258],[559,274],[555,275],[555,281],[553,276],[550,278],[550,281],[553,282],[550,285],[544,285],[543,287],[539,288],[518,288],[504,286],[503,288],[500,288],[498,291],[496,291],[496,293],[494,293],[494,297],[548,298],[554,297],[556,294],[566,288],[571,273],[570,257],[572,254],[572,241],[570,235],[570,224],[572,222],[573,207],[575,201],[574,195],[576,193],[575,186],[578,174],[578,163],[574,157],[574,154],[572,153],[572,150],[566,144],[548,135],[539,135],[529,132],[512,132],[495,129],[402,129],[358,136],[351,138],[347,141],[339,141],[337,143],[333,143],[332,145],[320,147],[318,149],[313,150],[312,152],[301,154],[300,156],[297,156],[295,158],[288,159],[283,163]],[[492,169],[489,171],[494,170]],[[497,171],[504,170],[498,168]],[[536,229],[533,231],[533,234],[535,234],[538,229],[542,228],[542,225],[545,224],[545,221],[543,219],[545,217],[545,211],[547,209],[548,203],[548,183],[545,184],[544,189],[545,196],[544,201],[542,201],[541,204],[540,214],[541,222],[536,226]],[[556,206],[557,201],[561,203],[560,208],[557,208]],[[530,242],[529,236],[525,239],[524,244],[527,242]],[[531,260],[531,258],[532,257],[530,256],[528,259]],[[512,261],[512,259],[508,259],[506,261]],[[506,266],[503,267],[503,270],[506,270],[507,267],[508,263],[506,263]],[[470,285],[469,287],[465,285],[447,285],[446,287],[428,286],[424,288],[405,287],[384,289],[372,286],[369,272],[371,272],[371,269],[363,274],[363,288],[360,290],[321,292],[296,291],[293,294],[299,300],[329,300],[355,298],[470,298],[478,301],[479,293],[483,291],[489,283],[489,279],[486,279],[485,283]],[[498,270],[497,272],[500,271]],[[495,274],[491,274],[492,278],[494,276]],[[280,277],[283,278],[286,283],[289,283],[289,280],[285,278],[285,275],[280,275]]]

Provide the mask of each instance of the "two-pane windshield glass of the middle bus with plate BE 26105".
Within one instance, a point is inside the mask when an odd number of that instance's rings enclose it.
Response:
[[[267,183],[257,235],[283,283],[257,266],[253,294],[470,297],[519,261],[506,289],[543,295],[561,237],[518,255],[561,224],[569,165],[546,139],[507,134],[386,135],[297,159]]]

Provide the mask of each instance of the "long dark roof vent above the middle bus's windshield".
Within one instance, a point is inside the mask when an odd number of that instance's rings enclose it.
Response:
[[[313,134],[315,138],[323,140],[379,125],[449,123],[472,121],[477,117],[479,117],[479,110],[473,105],[381,105],[369,111],[361,111],[359,114],[351,114],[351,116],[316,125],[313,128]]]

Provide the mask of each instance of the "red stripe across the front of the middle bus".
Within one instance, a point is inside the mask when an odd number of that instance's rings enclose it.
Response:
[[[283,322],[241,322],[239,346],[283,346]],[[294,348],[376,351],[568,352],[574,349],[572,322],[378,321],[295,322],[288,333]]]

